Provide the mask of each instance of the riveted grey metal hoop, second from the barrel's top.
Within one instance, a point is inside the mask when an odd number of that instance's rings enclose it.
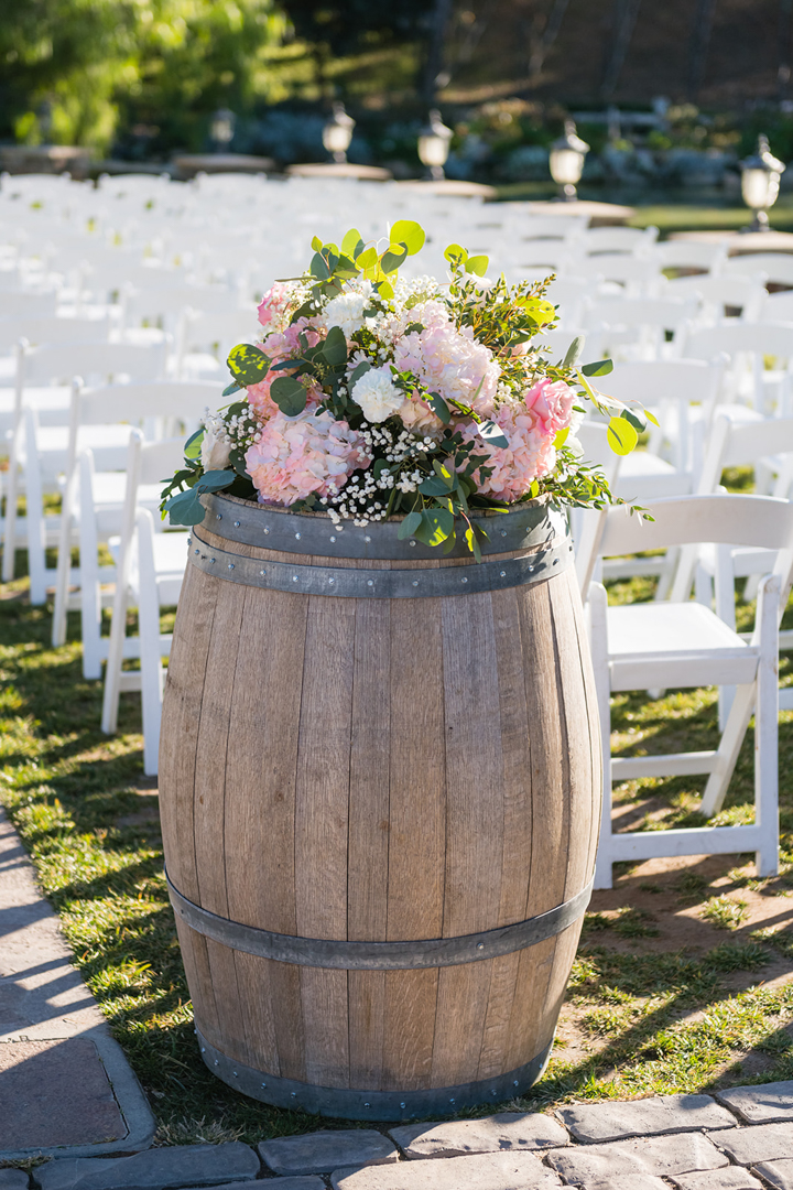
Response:
[[[539,550],[521,558],[480,562],[468,566],[427,568],[426,570],[358,570],[352,566],[303,566],[294,562],[266,562],[209,546],[194,530],[201,546],[190,563],[204,574],[245,587],[300,591],[303,595],[335,595],[346,599],[434,599],[445,595],[476,595],[480,591],[525,587],[559,575],[571,565],[573,547],[568,539],[556,539],[553,549]],[[461,574],[460,571],[465,572]]]

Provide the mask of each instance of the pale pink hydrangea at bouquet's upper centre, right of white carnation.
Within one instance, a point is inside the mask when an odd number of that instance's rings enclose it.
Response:
[[[501,368],[492,351],[476,342],[470,326],[458,331],[448,315],[446,321],[441,320],[435,307],[440,302],[427,302],[423,309],[416,309],[415,320],[422,321],[424,328],[411,331],[396,344],[394,362],[399,371],[415,372],[427,392],[440,393],[447,401],[460,401],[490,416]],[[426,322],[420,311],[428,315]]]

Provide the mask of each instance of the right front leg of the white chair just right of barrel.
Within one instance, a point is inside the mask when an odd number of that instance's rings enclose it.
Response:
[[[755,708],[755,821],[761,844],[755,860],[761,877],[779,872],[779,578],[766,578],[757,602],[761,644]]]

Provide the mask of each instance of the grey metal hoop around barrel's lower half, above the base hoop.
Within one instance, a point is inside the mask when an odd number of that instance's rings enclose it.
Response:
[[[175,913],[215,942],[246,954],[294,963],[298,966],[333,967],[342,971],[411,971],[418,967],[458,966],[525,950],[554,938],[584,914],[592,895],[592,881],[569,901],[536,917],[498,929],[455,938],[420,938],[404,942],[359,942],[332,938],[297,938],[245,926],[202,909],[176,889],[168,873],[168,892]]]

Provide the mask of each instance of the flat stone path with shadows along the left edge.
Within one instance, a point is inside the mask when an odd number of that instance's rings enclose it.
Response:
[[[134,1152],[153,1133],[138,1081],[0,808],[0,1161]],[[8,1172],[0,1170],[0,1190],[12,1190]]]

